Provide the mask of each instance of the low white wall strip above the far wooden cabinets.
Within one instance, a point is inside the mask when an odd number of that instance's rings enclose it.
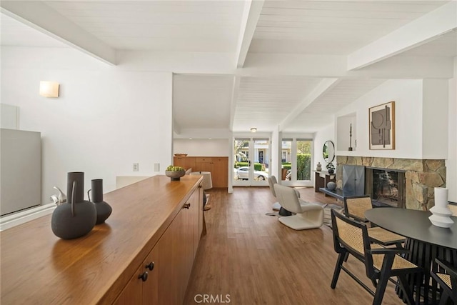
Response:
[[[173,153],[189,156],[229,156],[227,139],[174,139]]]

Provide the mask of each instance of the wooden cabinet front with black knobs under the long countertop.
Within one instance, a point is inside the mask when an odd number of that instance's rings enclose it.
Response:
[[[201,237],[199,211],[203,214],[203,200],[200,193],[199,187],[181,206],[181,211],[121,292],[116,305],[182,304]]]

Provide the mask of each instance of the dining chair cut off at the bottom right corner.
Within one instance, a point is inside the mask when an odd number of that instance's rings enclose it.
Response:
[[[451,300],[451,304],[457,304],[457,268],[452,266],[448,261],[435,259],[438,264],[438,271],[431,271],[431,276],[443,289],[441,294],[440,305],[447,304]]]

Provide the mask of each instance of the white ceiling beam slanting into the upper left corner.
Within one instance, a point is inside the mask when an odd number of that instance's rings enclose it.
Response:
[[[116,50],[41,1],[0,1],[1,13],[83,51],[107,64],[116,64]]]

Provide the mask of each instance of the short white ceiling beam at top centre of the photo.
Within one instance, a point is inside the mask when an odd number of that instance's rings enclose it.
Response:
[[[243,18],[241,19],[238,46],[236,46],[236,67],[242,68],[256,31],[256,26],[262,11],[264,0],[248,0],[244,4]]]

